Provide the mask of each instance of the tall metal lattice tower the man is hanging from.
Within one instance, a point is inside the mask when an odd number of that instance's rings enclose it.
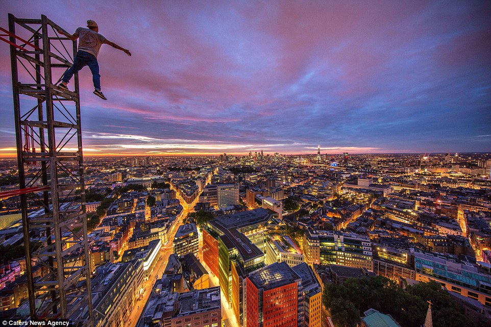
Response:
[[[92,326],[77,74],[75,91],[56,86],[72,65],[77,42],[57,30],[44,15],[9,14],[19,187],[30,190],[20,195],[29,305],[33,319]],[[28,241],[39,237],[45,237],[40,248]]]

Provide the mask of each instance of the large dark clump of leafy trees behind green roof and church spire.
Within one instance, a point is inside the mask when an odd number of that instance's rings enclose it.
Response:
[[[323,303],[333,322],[345,327],[353,326],[349,317],[355,314],[355,309],[359,314],[371,308],[391,315],[402,327],[420,327],[425,321],[427,300],[433,303],[434,327],[475,327],[452,296],[436,282],[419,283],[403,290],[382,276],[350,278],[343,285],[326,285],[323,294]]]

